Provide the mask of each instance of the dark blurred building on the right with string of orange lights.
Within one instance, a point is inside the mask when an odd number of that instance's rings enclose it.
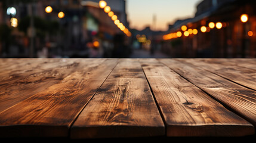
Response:
[[[251,0],[202,1],[195,17],[178,21],[169,35],[163,35],[162,51],[174,58],[255,58],[255,4]],[[240,20],[243,14],[248,21]],[[210,28],[209,23],[214,27]],[[182,26],[186,26],[186,30],[183,31]],[[203,32],[202,26],[205,26]],[[197,32],[189,33],[193,29]],[[177,32],[182,35],[177,36]]]

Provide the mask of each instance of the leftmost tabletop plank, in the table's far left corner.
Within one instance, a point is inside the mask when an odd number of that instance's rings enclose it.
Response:
[[[18,64],[9,73],[0,76],[2,79],[0,81],[0,113],[60,82],[70,73],[81,70],[85,64],[90,64],[92,60],[88,60],[88,63],[79,63],[79,60],[74,59],[30,61],[21,59],[19,61],[25,65],[20,67],[20,64]]]

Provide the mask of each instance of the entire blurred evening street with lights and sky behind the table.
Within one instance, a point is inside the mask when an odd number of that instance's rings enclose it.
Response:
[[[255,57],[255,0],[0,0],[0,58]]]

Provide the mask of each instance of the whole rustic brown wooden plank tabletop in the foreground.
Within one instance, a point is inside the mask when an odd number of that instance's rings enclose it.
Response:
[[[255,135],[255,59],[0,59],[0,138]]]

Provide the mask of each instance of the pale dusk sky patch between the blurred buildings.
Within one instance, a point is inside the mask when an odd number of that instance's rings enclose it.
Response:
[[[156,30],[167,30],[177,19],[193,17],[202,0],[126,0],[131,28],[151,26],[156,15]]]

